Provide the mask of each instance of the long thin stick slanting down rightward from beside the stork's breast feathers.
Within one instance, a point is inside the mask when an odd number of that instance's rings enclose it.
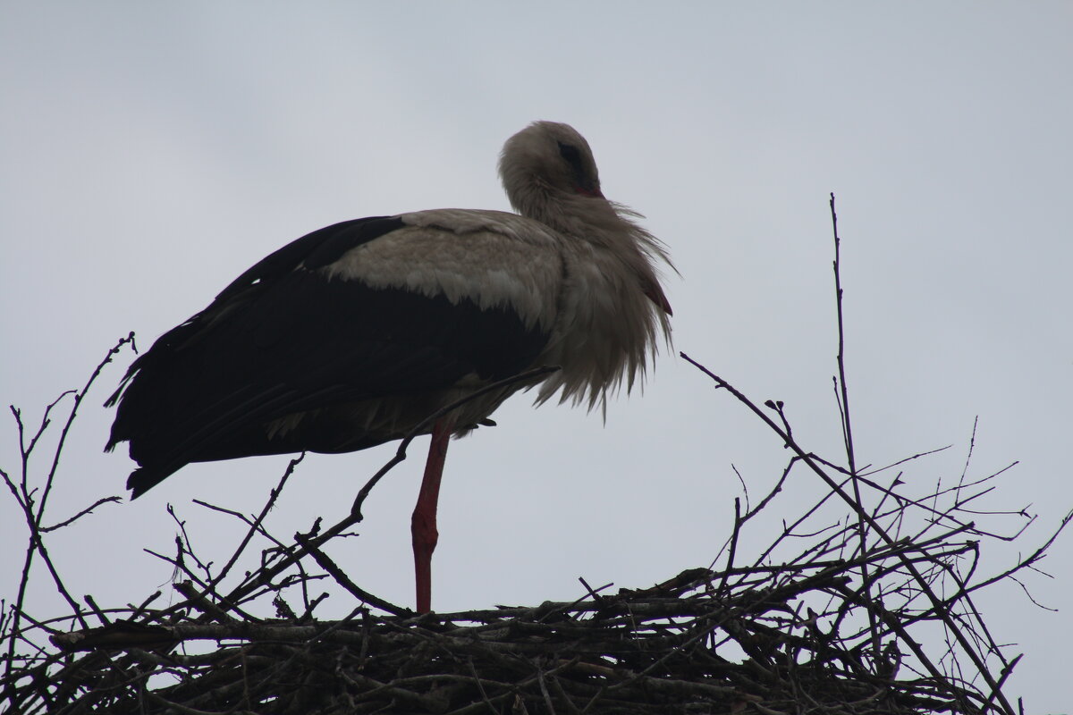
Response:
[[[679,353],[679,355],[690,364],[694,366],[701,372],[703,372],[704,374],[708,375],[708,377],[714,379],[716,382],[717,387],[727,390],[741,404],[747,406],[749,409],[753,412],[753,414],[760,417],[776,434],[779,435],[779,437],[782,438],[783,444],[785,444],[798,457],[800,457],[802,461],[806,465],[808,465],[808,467],[812,470],[812,472],[817,476],[819,476],[835,494],[837,494],[843,502],[850,505],[851,508],[853,508],[855,511],[857,511],[857,513],[862,516],[862,518],[868,523],[868,526],[871,527],[872,531],[874,531],[880,536],[880,538],[887,543],[887,546],[894,547],[896,545],[895,539],[891,538],[891,535],[886,533],[886,530],[884,530],[879,524],[879,522],[872,519],[872,517],[869,513],[864,511],[864,509],[861,508],[859,504],[855,502],[853,497],[847,494],[846,491],[841,487],[839,487],[838,483],[834,479],[832,479],[826,472],[820,468],[820,465],[815,463],[811,455],[807,453],[800,447],[800,445],[791,440],[790,436],[785,432],[783,432],[782,429],[778,424],[776,424],[770,417],[768,417],[763,411],[761,411],[760,407],[758,407],[752,402],[752,400],[750,400],[745,394],[739,392],[733,385],[727,383],[725,379],[723,379],[719,375],[716,375],[710,370],[708,370],[700,362],[686,355],[685,353]],[[984,681],[986,681],[987,686],[990,687],[991,690],[996,694],[997,699],[999,700],[1001,705],[1005,709],[1005,712],[1012,715],[1014,713],[1013,706],[1006,700],[1005,696],[1003,696],[1001,692],[998,692],[998,684],[996,683],[995,679],[991,676],[990,672],[988,672],[986,666],[980,659],[980,656],[976,654],[975,650],[972,649],[972,644],[969,643],[968,639],[957,627],[957,624],[951,617],[950,613],[945,612],[945,610],[942,608],[942,600],[935,594],[935,592],[931,590],[931,586],[928,584],[928,582],[921,575],[920,570],[912,564],[912,562],[909,558],[907,558],[903,554],[898,554],[898,557],[906,566],[906,569],[913,577],[913,580],[916,581],[917,584],[920,584],[921,591],[927,596],[928,600],[931,601],[931,605],[936,609],[937,614],[942,619],[943,623],[946,624],[946,626],[954,634],[954,636],[958,641],[958,644],[965,650],[966,655],[968,655],[969,658],[972,660],[973,666],[975,666],[981,676],[984,679]],[[931,668],[934,668],[934,666],[931,666]],[[938,670],[935,670],[931,674],[935,677],[942,680],[942,673],[940,673]],[[952,689],[950,690],[950,692],[957,699],[961,698],[960,695],[958,695],[956,691]]]

